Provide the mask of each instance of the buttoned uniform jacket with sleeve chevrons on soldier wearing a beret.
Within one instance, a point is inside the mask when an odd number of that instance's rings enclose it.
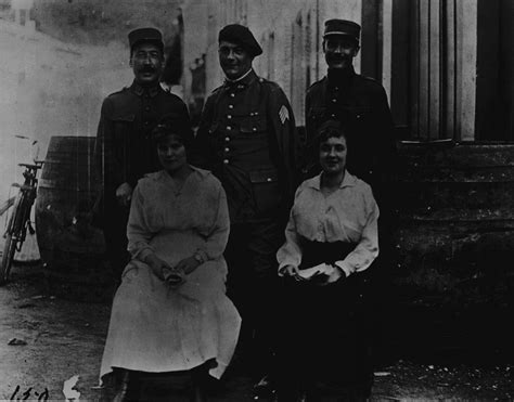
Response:
[[[296,187],[295,137],[284,92],[253,70],[209,95],[192,160],[220,179],[232,223],[286,215]]]

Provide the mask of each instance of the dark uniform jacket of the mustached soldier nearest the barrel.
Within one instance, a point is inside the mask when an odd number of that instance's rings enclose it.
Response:
[[[104,100],[95,159],[103,172],[106,199],[115,197],[120,184],[129,183],[133,189],[145,173],[158,170],[157,153],[150,134],[168,114],[189,119],[182,100],[159,85],[143,88],[134,81]]]

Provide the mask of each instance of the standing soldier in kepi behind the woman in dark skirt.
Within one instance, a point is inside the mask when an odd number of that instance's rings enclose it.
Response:
[[[394,228],[394,190],[391,178],[396,165],[396,140],[387,95],[381,83],[372,78],[356,74],[352,60],[357,56],[360,26],[351,21],[329,20],[323,35],[323,52],[329,66],[327,75],[314,82],[306,95],[306,134],[303,174],[310,178],[318,174],[318,147],[316,133],[326,120],[338,120],[347,133],[348,171],[369,183],[373,190],[381,218],[378,219],[380,255],[368,275],[368,300],[378,300],[385,291],[385,282],[394,263],[391,230]],[[388,273],[387,273],[388,272]],[[383,281],[377,281],[377,276]],[[365,299],[365,298],[364,298]],[[381,301],[381,303],[384,300]],[[375,309],[365,314],[373,315]],[[369,320],[368,324],[376,324]],[[363,330],[365,333],[365,329]],[[377,328],[373,328],[376,333]],[[376,335],[375,335],[376,336]],[[363,338],[365,339],[365,338]],[[367,341],[372,343],[371,339]],[[370,349],[371,351],[371,349]],[[371,364],[371,363],[370,363]],[[370,374],[372,376],[371,367]]]

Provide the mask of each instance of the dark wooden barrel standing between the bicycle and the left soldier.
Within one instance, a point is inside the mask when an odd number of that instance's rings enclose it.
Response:
[[[94,138],[52,137],[36,198],[39,252],[51,291],[73,299],[112,297],[103,233],[91,226],[99,194]]]

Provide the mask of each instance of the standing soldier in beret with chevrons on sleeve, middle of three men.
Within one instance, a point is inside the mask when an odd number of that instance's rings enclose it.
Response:
[[[244,350],[252,350],[260,378],[271,368],[275,338],[275,254],[295,191],[295,121],[282,89],[252,68],[262,49],[249,29],[228,25],[218,39],[227,79],[206,101],[195,157],[227,192],[228,294],[243,317]]]

